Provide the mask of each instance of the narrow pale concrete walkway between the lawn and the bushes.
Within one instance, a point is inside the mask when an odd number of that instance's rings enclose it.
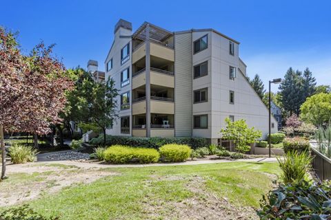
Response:
[[[163,163],[163,164],[102,164],[102,163],[92,163],[92,162],[76,162],[76,161],[47,161],[47,162],[35,162],[34,164],[63,164],[67,166],[77,166],[79,168],[133,168],[133,167],[149,167],[149,166],[184,166],[184,165],[199,165],[199,164],[219,164],[219,163],[231,163],[231,162],[277,162],[275,157],[260,157],[254,159],[206,159],[206,160],[195,160],[195,161],[186,161],[181,163]]]

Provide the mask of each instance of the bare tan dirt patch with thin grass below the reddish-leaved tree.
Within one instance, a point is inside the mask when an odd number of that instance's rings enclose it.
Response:
[[[0,182],[0,206],[37,199],[74,184],[89,184],[102,177],[119,175],[99,168],[78,168],[61,164],[11,166],[8,170],[9,178]]]

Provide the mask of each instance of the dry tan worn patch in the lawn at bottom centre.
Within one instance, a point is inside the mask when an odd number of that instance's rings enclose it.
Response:
[[[145,212],[150,219],[257,219],[255,210],[250,207],[233,206],[226,198],[217,197],[205,190],[205,179],[199,176],[187,177],[187,188],[193,197],[180,202],[148,201]],[[177,176],[154,177],[159,180],[182,180]],[[166,210],[165,213],[159,213]],[[160,216],[161,214],[161,216]]]

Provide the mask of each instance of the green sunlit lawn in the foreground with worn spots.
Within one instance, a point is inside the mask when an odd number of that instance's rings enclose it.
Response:
[[[228,203],[238,209],[257,208],[280,172],[277,163],[254,162],[109,170],[119,175],[65,188],[29,204],[61,219],[182,219],[185,210],[200,214],[210,209],[212,214],[228,209]]]

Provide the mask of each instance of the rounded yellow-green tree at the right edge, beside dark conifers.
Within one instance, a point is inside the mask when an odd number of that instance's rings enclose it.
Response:
[[[301,105],[300,118],[316,126],[327,124],[331,120],[331,94],[310,96]]]

